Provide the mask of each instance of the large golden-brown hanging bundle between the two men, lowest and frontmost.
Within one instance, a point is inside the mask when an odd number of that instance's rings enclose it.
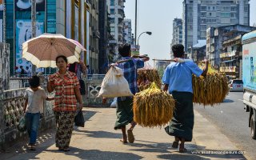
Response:
[[[173,117],[175,101],[156,83],[134,96],[134,121],[141,126],[164,126]]]

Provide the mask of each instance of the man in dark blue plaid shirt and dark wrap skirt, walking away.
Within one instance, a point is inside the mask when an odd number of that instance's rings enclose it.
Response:
[[[122,56],[122,60],[128,60],[127,62],[123,62],[118,64],[118,67],[121,68],[124,72],[124,76],[128,81],[130,91],[132,94],[138,93],[137,86],[137,69],[142,68],[144,66],[144,62],[150,60],[148,57],[143,58],[131,58],[130,44],[123,44],[118,47],[118,52]],[[130,60],[129,60],[130,59]],[[134,126],[136,126],[136,122],[134,122],[134,113],[133,113],[133,97],[118,97],[117,99],[118,106],[116,110],[117,119],[114,125],[114,130],[121,129],[122,130],[122,139],[120,140],[123,143],[127,143],[127,135],[128,141],[134,142]],[[126,134],[126,125],[130,123],[130,128],[127,130]]]

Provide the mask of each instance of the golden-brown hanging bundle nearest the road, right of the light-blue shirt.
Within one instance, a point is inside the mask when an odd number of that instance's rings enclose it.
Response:
[[[229,93],[228,80],[226,74],[219,74],[209,67],[210,73],[206,77],[199,78],[193,75],[192,84],[194,98],[193,102],[204,106],[223,102]]]

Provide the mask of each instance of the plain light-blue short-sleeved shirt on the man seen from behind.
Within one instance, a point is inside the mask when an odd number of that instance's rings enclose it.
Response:
[[[192,74],[197,77],[202,74],[202,70],[194,62],[174,62],[166,67],[162,82],[169,85],[170,94],[173,91],[193,94]]]

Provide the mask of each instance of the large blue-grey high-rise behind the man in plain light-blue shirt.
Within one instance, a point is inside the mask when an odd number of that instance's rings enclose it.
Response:
[[[206,39],[209,27],[250,24],[250,0],[184,0],[183,45],[185,50]]]

